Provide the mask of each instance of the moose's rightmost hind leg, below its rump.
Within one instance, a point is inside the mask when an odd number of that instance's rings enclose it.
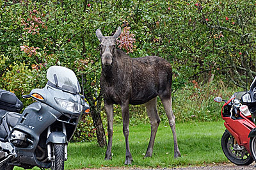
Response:
[[[179,151],[179,147],[178,147],[177,134],[176,134],[176,129],[175,129],[175,116],[172,111],[172,97],[161,98],[161,101],[163,103],[164,110],[166,112],[166,116],[169,120],[169,125],[172,128],[173,143],[174,143],[174,158],[177,158],[177,157],[180,157],[180,151]]]

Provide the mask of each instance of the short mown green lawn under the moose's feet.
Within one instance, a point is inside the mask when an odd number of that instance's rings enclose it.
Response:
[[[134,159],[132,167],[177,167],[228,162],[220,143],[221,135],[225,131],[223,121],[177,124],[178,144],[182,156],[176,159],[173,159],[172,130],[164,124],[166,123],[161,122],[159,125],[152,157],[145,159],[143,157],[150,138],[150,125],[129,127],[129,143]],[[124,166],[125,141],[122,125],[114,125],[113,128],[112,160],[104,160],[106,148],[97,146],[97,141],[70,143],[65,169]]]

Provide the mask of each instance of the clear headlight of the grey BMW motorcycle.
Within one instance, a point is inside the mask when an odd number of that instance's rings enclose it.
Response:
[[[83,109],[83,106],[81,104],[77,104],[74,102],[70,102],[69,100],[63,100],[60,98],[54,98],[54,99],[56,101],[56,104],[60,105],[60,107],[63,107],[64,109],[67,109],[70,112],[79,113]]]

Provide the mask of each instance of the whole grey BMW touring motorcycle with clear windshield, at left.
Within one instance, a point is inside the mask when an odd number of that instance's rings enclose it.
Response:
[[[43,89],[29,95],[36,100],[19,114],[23,104],[11,92],[0,90],[0,170],[64,169],[67,145],[81,113],[89,109],[72,70],[51,66]]]

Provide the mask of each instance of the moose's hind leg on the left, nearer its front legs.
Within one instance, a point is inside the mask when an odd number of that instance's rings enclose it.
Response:
[[[157,114],[156,105],[157,105],[156,97],[145,104],[148,118],[150,120],[150,127],[151,127],[150,141],[148,143],[148,148],[147,148],[145,157],[152,157],[154,142],[156,138],[156,132],[157,132],[159,123],[161,121]]]

